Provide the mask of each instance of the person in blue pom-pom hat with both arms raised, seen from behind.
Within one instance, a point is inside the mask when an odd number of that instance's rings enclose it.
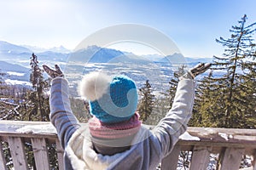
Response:
[[[192,114],[194,78],[211,66],[199,64],[180,77],[172,109],[154,129],[141,125],[136,113],[137,88],[129,77],[86,75],[80,94],[93,116],[79,124],[71,111],[68,83],[58,65],[44,66],[52,77],[50,120],[65,150],[65,169],[155,169],[186,131]]]

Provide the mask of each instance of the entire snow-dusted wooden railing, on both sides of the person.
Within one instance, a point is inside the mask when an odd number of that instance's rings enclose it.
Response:
[[[50,167],[48,145],[55,145],[57,163],[55,169],[63,169],[63,150],[57,139],[55,128],[49,122],[0,121],[0,169],[8,169],[6,147],[15,170],[26,170],[28,154],[26,144],[31,144],[35,167],[48,170]],[[7,145],[6,145],[7,144]],[[5,148],[4,148],[5,147]],[[250,169],[256,170],[256,130],[189,127],[160,168],[176,170],[181,151],[190,153],[189,169],[204,170],[209,166],[212,154],[217,157],[216,168],[236,170],[240,168],[242,156],[252,157]]]

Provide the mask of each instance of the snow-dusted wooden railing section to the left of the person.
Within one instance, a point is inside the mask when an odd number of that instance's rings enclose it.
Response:
[[[58,169],[63,169],[63,150],[55,127],[49,122],[0,121],[0,169],[8,169],[13,164],[15,170],[32,169],[28,165],[27,147],[32,145],[32,154],[36,169],[49,170],[49,144],[55,145]],[[8,144],[9,150],[6,150]],[[26,147],[25,147],[26,145]],[[5,148],[3,148],[5,147]],[[11,155],[11,162],[6,161],[6,151]],[[55,168],[56,169],[56,168]]]

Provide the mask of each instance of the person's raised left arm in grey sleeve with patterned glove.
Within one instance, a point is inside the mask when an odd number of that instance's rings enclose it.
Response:
[[[43,65],[43,67],[49,77],[53,78],[49,97],[49,118],[57,130],[61,146],[65,148],[68,140],[80,125],[71,110],[68,98],[68,82],[64,78],[61,69],[58,65],[55,65],[55,70],[46,65]]]

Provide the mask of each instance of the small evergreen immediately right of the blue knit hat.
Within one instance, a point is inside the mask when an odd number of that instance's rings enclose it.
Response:
[[[142,99],[140,99],[137,111],[143,121],[148,119],[148,116],[152,113],[154,108],[154,94],[152,94],[152,92],[153,89],[148,80],[143,88],[139,89],[139,94],[142,96]]]

